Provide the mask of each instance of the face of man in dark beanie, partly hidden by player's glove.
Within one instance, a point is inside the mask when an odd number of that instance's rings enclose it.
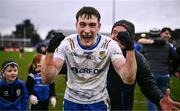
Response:
[[[123,26],[116,26],[116,27],[114,27],[114,29],[112,30],[112,33],[111,33],[111,38],[113,40],[117,41],[121,48],[123,48],[124,46],[118,41],[116,36],[119,32],[125,32],[125,31],[127,31],[127,29],[124,28]]]

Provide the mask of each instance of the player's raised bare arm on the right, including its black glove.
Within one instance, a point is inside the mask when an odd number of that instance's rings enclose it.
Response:
[[[134,44],[128,32],[119,32],[117,39],[125,46],[126,60],[116,59],[112,64],[125,84],[133,84],[136,79],[137,63],[135,58]]]

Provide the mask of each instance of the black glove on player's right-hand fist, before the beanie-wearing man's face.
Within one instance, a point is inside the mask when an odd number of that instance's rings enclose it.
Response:
[[[129,35],[128,32],[119,32],[116,38],[120,41],[122,45],[125,46],[126,50],[133,50],[134,49],[134,42],[132,37]]]

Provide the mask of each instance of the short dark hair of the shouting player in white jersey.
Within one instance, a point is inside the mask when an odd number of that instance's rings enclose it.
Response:
[[[97,17],[98,21],[100,21],[101,19],[100,13],[94,7],[89,7],[89,6],[82,7],[76,14],[76,20],[78,21],[78,18],[83,15],[85,17],[88,17],[88,19],[91,18],[92,15]]]

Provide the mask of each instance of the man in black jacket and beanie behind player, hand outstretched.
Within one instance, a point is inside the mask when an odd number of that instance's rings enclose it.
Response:
[[[118,38],[127,38],[125,36],[129,36],[130,39],[133,39],[135,36],[134,25],[127,20],[120,20],[114,23],[111,31],[111,37],[114,40],[119,41]],[[120,40],[120,47],[123,50],[124,56],[126,55],[125,41],[126,40]],[[169,97],[169,89],[167,90],[166,95],[164,95],[157,87],[145,57],[138,51],[135,51],[135,56],[137,61],[136,82],[140,86],[142,93],[150,101],[158,106],[161,106],[162,110],[169,110],[174,108],[176,105],[180,105],[180,103],[171,100]],[[125,84],[122,79],[117,76],[112,65],[110,65],[107,78],[107,89],[110,96],[112,110],[132,110],[134,88],[135,83],[133,85]]]

